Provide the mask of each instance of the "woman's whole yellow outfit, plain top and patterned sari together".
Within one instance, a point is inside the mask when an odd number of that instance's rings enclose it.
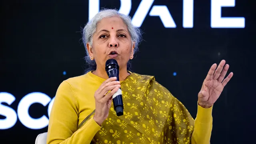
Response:
[[[121,82],[124,116],[117,117],[112,107],[102,126],[92,115],[78,129],[94,111],[94,92],[104,80],[88,72],[60,84],[50,113],[47,144],[210,143],[212,107],[198,105],[194,120],[153,76],[136,73]]]

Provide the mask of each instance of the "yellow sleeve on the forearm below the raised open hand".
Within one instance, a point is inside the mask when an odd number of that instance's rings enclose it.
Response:
[[[192,132],[191,144],[210,144],[212,133],[212,107],[202,108],[197,106],[194,131]]]

